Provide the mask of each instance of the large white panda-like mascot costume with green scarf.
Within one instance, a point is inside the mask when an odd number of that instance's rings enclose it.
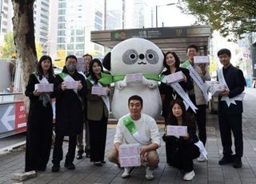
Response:
[[[139,95],[143,99],[142,113],[157,119],[162,110],[158,90],[159,75],[163,70],[164,55],[158,46],[142,38],[130,38],[114,46],[103,59],[110,70],[115,89],[112,100],[114,118],[128,114],[128,98]],[[128,82],[128,76],[141,76],[141,80]]]

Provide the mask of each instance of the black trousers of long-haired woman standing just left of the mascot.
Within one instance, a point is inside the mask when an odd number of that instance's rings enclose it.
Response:
[[[106,147],[107,118],[100,121],[88,120],[90,132],[90,162],[104,161]]]

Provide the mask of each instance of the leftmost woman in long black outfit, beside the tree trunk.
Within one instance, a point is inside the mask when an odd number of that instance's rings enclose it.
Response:
[[[51,136],[53,130],[53,110],[51,93],[40,93],[34,85],[47,79],[54,83],[54,70],[50,56],[40,58],[37,71],[30,74],[25,94],[30,98],[30,111],[26,129],[25,171],[46,170],[50,157]]]

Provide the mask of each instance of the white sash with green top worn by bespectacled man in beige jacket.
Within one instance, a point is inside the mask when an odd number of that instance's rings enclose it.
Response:
[[[202,81],[202,78],[198,75],[198,72],[194,70],[193,66],[191,66],[190,61],[183,62],[182,66],[190,70],[190,77],[193,78],[194,82],[198,85],[198,87],[202,91],[203,98],[205,98],[206,102],[208,102],[210,99],[204,87],[204,82]]]

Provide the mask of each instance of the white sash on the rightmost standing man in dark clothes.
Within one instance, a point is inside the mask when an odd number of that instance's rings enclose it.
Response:
[[[226,85],[226,81],[225,81],[225,78],[224,78],[224,74],[223,74],[222,68],[218,70],[218,82],[220,84]],[[227,85],[226,85],[226,90],[230,91],[230,89],[229,89],[229,87]],[[233,98],[229,98],[228,96],[223,96],[221,98],[221,101],[225,101],[227,106],[230,106],[231,103],[236,105],[235,101],[242,101],[244,96],[245,96],[245,93],[238,94],[237,96],[235,96]]]

